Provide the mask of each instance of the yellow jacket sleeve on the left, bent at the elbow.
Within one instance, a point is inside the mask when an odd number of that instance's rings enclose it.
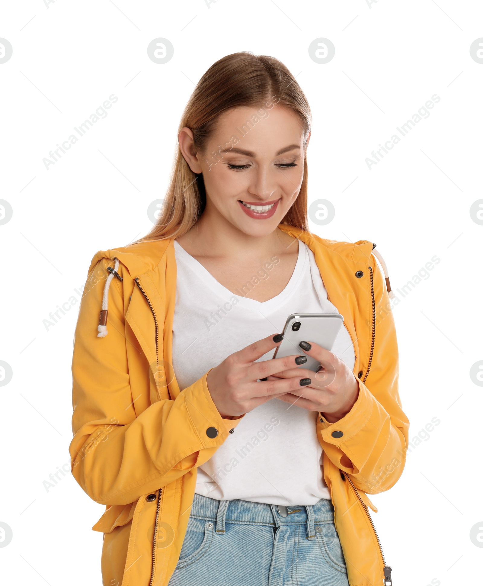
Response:
[[[109,333],[97,338],[105,280],[95,282],[93,275],[107,275],[109,265],[112,261],[107,259],[95,265],[81,299],[72,362],[74,438],[69,451],[73,476],[92,499],[126,505],[210,459],[239,419],[221,418],[206,374],[176,400],[149,404],[148,361],[146,370],[140,370],[138,361],[137,372],[129,373],[124,288],[133,288],[130,277],[125,276],[122,284],[117,279],[111,282]],[[133,396],[131,376],[138,377],[138,387],[139,380],[145,381],[139,397]],[[210,427],[217,430],[216,437],[208,437]]]

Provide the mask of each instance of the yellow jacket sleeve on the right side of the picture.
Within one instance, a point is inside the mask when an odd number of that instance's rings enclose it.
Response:
[[[358,379],[359,396],[345,417],[335,423],[322,420],[321,444],[328,458],[368,493],[391,488],[406,461],[409,421],[398,391],[398,343],[389,295],[374,255],[376,327],[374,354],[365,383]],[[341,431],[334,438],[333,432]],[[336,434],[340,435],[340,434]]]

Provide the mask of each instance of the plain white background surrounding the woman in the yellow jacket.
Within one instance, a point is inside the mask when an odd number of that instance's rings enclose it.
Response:
[[[124,246],[152,223],[163,197],[181,111],[194,83],[220,57],[250,50],[282,60],[313,111],[310,201],[335,206],[320,236],[374,241],[393,289],[441,259],[394,315],[400,395],[410,438],[437,417],[429,439],[407,455],[397,485],[374,496],[374,522],[396,586],[481,580],[483,389],[470,367],[481,346],[483,64],[470,45],[483,37],[483,6],[454,0],[44,0],[0,8],[0,37],[13,46],[0,64],[2,190],[13,208],[0,226],[0,360],[13,369],[0,387],[0,521],[13,532],[0,548],[4,584],[101,584],[104,507],[70,473],[71,350],[76,305],[47,330],[43,320],[81,289],[97,250]],[[169,39],[173,58],[148,59]],[[328,38],[335,57],[314,63],[308,47]],[[118,97],[49,170],[42,159],[111,94]],[[437,94],[440,102],[377,165],[365,158]],[[77,295],[78,298],[78,295]],[[68,468],[68,466],[66,466]]]

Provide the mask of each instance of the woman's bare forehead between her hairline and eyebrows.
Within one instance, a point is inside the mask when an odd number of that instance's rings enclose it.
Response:
[[[280,148],[292,143],[302,145],[304,128],[298,115],[285,106],[241,106],[220,115],[211,138],[224,147],[234,137],[239,145],[251,150],[257,145]]]

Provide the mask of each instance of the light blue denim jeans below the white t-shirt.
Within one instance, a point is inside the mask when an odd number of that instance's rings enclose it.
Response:
[[[169,586],[195,585],[348,586],[332,503],[284,511],[195,494]]]

